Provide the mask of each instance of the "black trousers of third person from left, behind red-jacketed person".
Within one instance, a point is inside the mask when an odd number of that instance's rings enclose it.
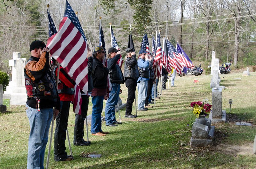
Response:
[[[87,116],[89,97],[82,95],[81,115],[76,114],[74,127],[74,143],[81,142],[84,137],[84,120]]]

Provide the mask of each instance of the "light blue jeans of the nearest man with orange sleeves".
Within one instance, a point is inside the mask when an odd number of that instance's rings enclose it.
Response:
[[[26,105],[30,125],[28,138],[28,169],[44,168],[44,152],[48,142],[48,133],[53,117],[53,109],[45,108],[39,112]]]

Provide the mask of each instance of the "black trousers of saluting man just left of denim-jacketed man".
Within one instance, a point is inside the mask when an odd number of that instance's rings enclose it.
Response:
[[[131,115],[132,114],[132,103],[134,102],[135,98],[135,91],[137,86],[137,81],[134,79],[126,79],[125,86],[128,88],[128,97],[126,101],[126,111],[125,115]]]

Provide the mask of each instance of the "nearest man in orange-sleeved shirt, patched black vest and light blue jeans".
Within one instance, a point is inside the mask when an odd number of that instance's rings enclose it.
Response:
[[[60,111],[60,98],[49,65],[49,53],[42,41],[30,44],[31,57],[24,68],[30,125],[27,168],[44,168],[44,152],[50,124]],[[53,111],[53,107],[56,107]]]

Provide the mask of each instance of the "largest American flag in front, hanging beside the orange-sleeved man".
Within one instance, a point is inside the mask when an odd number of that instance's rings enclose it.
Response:
[[[66,1],[64,17],[60,22],[60,30],[48,39],[46,46],[50,49],[52,57],[65,68],[69,76],[79,85],[79,88],[87,93],[86,37],[68,1]]]

